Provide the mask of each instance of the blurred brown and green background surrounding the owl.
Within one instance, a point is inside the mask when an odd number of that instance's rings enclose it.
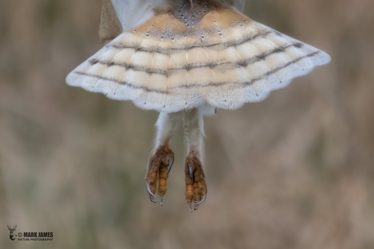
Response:
[[[1,248],[374,248],[374,2],[247,0],[332,62],[205,118],[208,198],[190,214],[184,144],[164,206],[144,175],[157,112],[65,84],[101,48],[101,0],[0,7]],[[52,231],[52,242],[9,239]]]

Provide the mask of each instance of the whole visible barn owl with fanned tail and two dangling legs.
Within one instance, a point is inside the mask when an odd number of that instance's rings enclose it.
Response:
[[[105,46],[66,78],[72,86],[160,112],[145,185],[163,205],[183,125],[188,209],[205,201],[203,116],[265,99],[329,62],[327,53],[242,14],[245,0],[103,0]],[[192,202],[194,206],[192,207]]]

